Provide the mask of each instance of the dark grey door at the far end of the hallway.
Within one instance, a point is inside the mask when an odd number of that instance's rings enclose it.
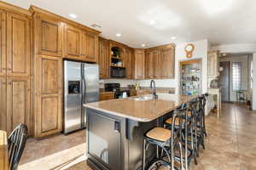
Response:
[[[230,61],[219,62],[219,66],[223,68],[220,71],[218,84],[221,89],[222,102],[230,102]]]

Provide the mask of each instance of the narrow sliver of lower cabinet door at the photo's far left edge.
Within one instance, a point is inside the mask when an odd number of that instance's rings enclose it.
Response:
[[[6,77],[0,77],[0,130],[7,130],[6,127]]]

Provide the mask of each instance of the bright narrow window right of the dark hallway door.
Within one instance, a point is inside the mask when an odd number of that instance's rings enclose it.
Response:
[[[233,91],[241,90],[241,63],[232,63],[232,87]]]

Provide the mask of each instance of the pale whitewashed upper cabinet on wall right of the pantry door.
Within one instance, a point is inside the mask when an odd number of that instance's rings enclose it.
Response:
[[[218,51],[212,51],[208,53],[208,78],[216,78],[218,73]]]

